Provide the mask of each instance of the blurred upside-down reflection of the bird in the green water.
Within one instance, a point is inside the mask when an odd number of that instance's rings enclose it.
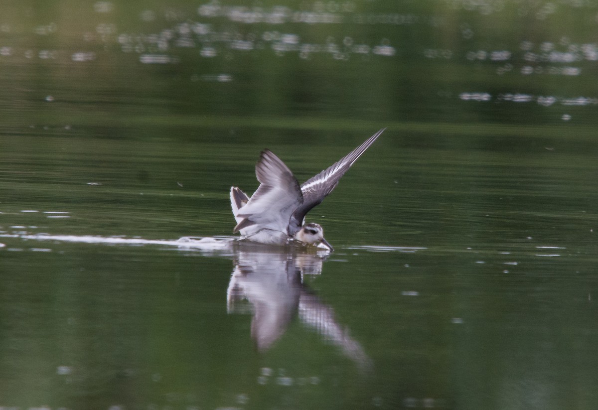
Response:
[[[304,275],[322,272],[324,260],[314,253],[240,251],[228,284],[228,313],[252,313],[251,336],[260,351],[269,349],[297,316],[368,370],[371,360],[361,345],[336,322],[332,307],[303,283]]]

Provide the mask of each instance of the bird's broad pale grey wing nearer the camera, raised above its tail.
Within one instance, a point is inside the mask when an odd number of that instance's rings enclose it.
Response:
[[[303,203],[297,178],[268,149],[261,152],[255,166],[255,176],[260,186],[235,215],[239,223],[234,227],[234,232],[258,225],[260,230],[265,228],[286,234],[293,211],[298,204]]]

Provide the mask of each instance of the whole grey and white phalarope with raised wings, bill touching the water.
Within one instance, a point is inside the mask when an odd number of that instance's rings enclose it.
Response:
[[[236,186],[230,188],[230,203],[237,221],[233,232],[240,232],[242,240],[253,242],[286,244],[298,241],[334,250],[325,240],[322,227],[313,222],[306,224],[305,216],[332,192],[341,176],[385,129],[301,185],[280,158],[269,149],[262,151],[255,165],[260,186],[252,197]]]

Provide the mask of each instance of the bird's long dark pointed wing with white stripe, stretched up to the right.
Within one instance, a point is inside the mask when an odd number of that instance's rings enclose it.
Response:
[[[359,158],[361,154],[376,141],[384,130],[386,130],[386,128],[382,128],[382,130],[378,131],[376,134],[365,140],[364,143],[353,149],[353,151],[349,152],[346,157],[341,158],[340,161],[332,164],[327,169],[306,180],[306,182],[301,185],[303,203],[298,206],[291,215],[288,227],[289,234],[295,234],[295,232],[300,230],[301,225],[303,225],[303,218],[305,218],[307,212],[321,203],[324,198],[332,192],[332,189],[338,185],[338,180],[341,176],[349,170],[353,163],[357,161],[357,158]]]

